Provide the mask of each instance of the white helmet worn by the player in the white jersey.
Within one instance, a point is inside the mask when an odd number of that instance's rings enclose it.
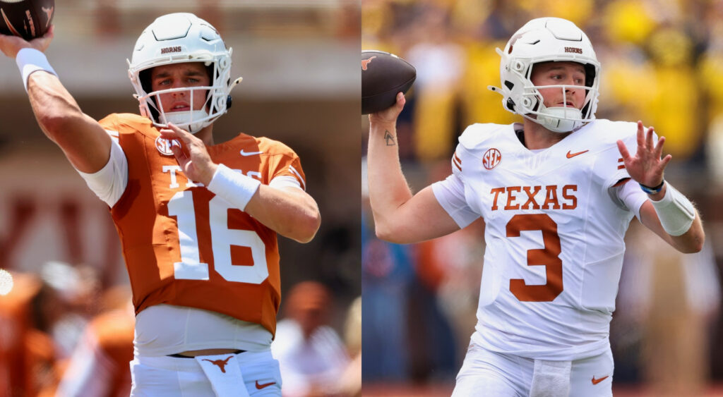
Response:
[[[600,86],[600,63],[585,32],[573,22],[561,18],[537,18],[527,22],[510,38],[505,50],[497,48],[500,61],[502,87],[489,86],[489,90],[502,94],[502,106],[523,115],[550,131],[574,131],[595,119]],[[571,61],[585,67],[585,102],[581,109],[550,107],[543,103],[542,95],[530,77],[534,64],[549,61]],[[548,85],[544,88],[572,85]]]

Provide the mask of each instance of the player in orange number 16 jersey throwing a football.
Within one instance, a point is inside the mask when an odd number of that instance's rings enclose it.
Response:
[[[53,35],[0,35],[0,51],[40,128],[110,206],[136,313],[132,395],[280,395],[276,235],[306,243],[320,214],[289,147],[247,134],[215,144],[240,82],[231,48],[194,14],[158,17],[129,61],[141,115],[95,121],[43,54]]]

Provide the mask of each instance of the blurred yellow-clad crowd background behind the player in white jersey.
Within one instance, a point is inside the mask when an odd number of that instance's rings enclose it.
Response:
[[[463,128],[516,121],[487,90],[500,84],[495,47],[534,17],[587,32],[602,62],[597,117],[642,120],[666,137],[666,178],[696,202],[707,235],[702,253],[681,256],[633,219],[611,325],[613,391],[723,396],[723,1],[361,0],[361,13],[362,49],[417,69],[398,124],[414,191],[450,173]],[[448,396],[476,323],[484,226],[391,245],[375,239],[366,200],[363,214],[364,395]]]

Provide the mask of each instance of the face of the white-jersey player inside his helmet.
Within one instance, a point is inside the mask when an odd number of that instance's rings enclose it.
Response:
[[[566,84],[585,86],[585,68],[576,62],[543,62],[532,69],[532,83],[536,86]],[[538,88],[547,108],[577,108],[585,104],[585,89],[573,87]]]

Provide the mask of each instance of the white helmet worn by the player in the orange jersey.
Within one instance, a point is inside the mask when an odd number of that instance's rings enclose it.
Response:
[[[209,71],[210,86],[152,91],[150,69],[185,62],[202,62]],[[241,82],[239,77],[231,83],[231,48],[226,49],[210,23],[189,13],[163,15],[148,25],[136,42],[128,66],[140,113],[155,126],[164,127],[170,122],[193,134],[226,113],[231,107],[229,93]],[[160,95],[180,91],[189,92],[191,103],[194,95],[206,95],[203,108],[164,112]]]

